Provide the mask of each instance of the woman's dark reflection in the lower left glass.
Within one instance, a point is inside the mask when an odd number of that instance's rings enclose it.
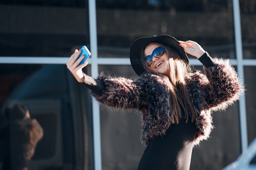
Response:
[[[7,126],[0,128],[2,139],[7,144],[1,146],[4,151],[2,169],[27,170],[29,160],[34,156],[38,141],[43,138],[43,128],[38,121],[31,118],[29,110],[23,104],[15,103],[4,108],[3,113],[7,117]],[[4,123],[4,122],[1,122]]]

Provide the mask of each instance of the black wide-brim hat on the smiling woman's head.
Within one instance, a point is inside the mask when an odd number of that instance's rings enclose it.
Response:
[[[146,72],[146,69],[144,68],[141,61],[141,51],[144,47],[153,42],[171,47],[177,51],[182,60],[189,64],[188,56],[186,55],[184,49],[179,46],[180,42],[178,42],[178,40],[176,40],[171,35],[153,35],[151,37],[141,37],[135,40],[130,48],[130,62],[133,70],[137,75],[141,75],[142,73]]]

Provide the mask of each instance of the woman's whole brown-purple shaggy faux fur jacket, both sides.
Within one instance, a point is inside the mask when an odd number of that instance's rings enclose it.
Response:
[[[229,61],[216,58],[213,63],[204,66],[204,74],[197,71],[186,79],[195,113],[195,145],[209,137],[213,128],[212,111],[224,110],[243,93],[238,75]],[[92,92],[97,101],[115,109],[137,109],[141,113],[141,141],[144,144],[164,135],[171,126],[170,95],[163,77],[144,73],[131,80],[101,74],[98,80],[104,82],[105,88],[102,93]]]

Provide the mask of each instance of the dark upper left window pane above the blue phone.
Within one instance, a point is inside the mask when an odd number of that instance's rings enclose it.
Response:
[[[9,2],[9,1],[8,1]],[[0,2],[0,56],[70,56],[89,45],[84,1]]]

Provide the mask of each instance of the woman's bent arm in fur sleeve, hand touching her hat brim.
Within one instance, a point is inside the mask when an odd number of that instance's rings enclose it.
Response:
[[[200,93],[200,99],[205,100],[209,108],[215,110],[225,109],[233,104],[243,94],[244,88],[228,60],[213,59],[204,49],[193,41],[179,41],[186,53],[193,55],[204,65],[204,74],[199,72],[192,75],[189,84],[198,84],[198,89],[193,86],[190,91]],[[194,89],[193,89],[194,88]],[[195,94],[196,95],[196,94]]]

